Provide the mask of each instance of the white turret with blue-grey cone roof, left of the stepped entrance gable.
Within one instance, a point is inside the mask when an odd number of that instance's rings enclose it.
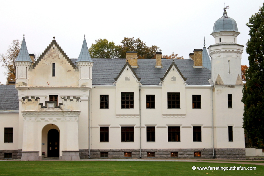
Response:
[[[27,51],[27,45],[24,34],[20,51],[15,60],[16,87],[27,86],[28,84],[27,72],[31,67],[31,65],[32,65],[32,60],[29,56],[29,52]]]

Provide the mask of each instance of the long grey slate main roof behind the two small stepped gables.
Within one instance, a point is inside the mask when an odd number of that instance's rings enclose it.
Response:
[[[76,59],[71,59],[72,62]],[[113,84],[124,65],[126,59],[93,59],[92,78],[93,85]],[[208,79],[211,78],[211,71],[207,68],[193,68],[193,60],[179,59],[174,60],[175,64],[187,79],[190,85],[210,85]],[[155,68],[155,59],[138,59],[138,68],[132,68],[138,75],[140,83],[143,85],[158,85],[161,82],[169,66],[172,64],[170,59],[162,59],[163,68]]]

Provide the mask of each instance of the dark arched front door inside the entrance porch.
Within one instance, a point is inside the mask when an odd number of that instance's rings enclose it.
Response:
[[[60,141],[60,134],[59,131],[56,129],[51,129],[48,132],[48,157],[55,157],[59,156],[59,141]]]

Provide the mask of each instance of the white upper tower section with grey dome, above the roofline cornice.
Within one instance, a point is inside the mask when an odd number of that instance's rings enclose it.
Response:
[[[240,34],[237,23],[224,14],[214,23],[213,33],[215,44],[209,46],[209,55],[212,58],[213,84],[236,85],[243,84],[241,80],[241,55],[243,45],[237,44]]]

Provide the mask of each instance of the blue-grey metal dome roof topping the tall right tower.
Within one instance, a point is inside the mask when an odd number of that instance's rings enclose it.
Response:
[[[213,32],[220,32],[220,31],[238,32],[237,22],[235,22],[233,18],[228,17],[226,11],[224,11],[223,16],[218,20],[216,20],[216,22],[214,23]]]

